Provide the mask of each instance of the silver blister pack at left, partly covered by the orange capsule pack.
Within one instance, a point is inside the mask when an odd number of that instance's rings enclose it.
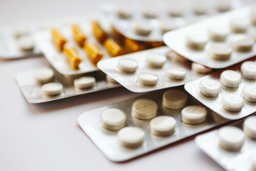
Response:
[[[73,77],[63,76],[49,66],[19,72],[15,76],[20,91],[30,103],[57,99],[120,87],[97,71]]]

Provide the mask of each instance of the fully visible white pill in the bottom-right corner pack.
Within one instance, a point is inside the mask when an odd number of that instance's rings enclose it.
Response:
[[[219,132],[219,146],[226,151],[239,151],[244,143],[245,135],[235,126],[224,126]]]

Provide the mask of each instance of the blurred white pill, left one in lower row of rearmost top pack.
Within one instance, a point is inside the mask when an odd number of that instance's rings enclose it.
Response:
[[[152,32],[152,26],[146,21],[134,21],[132,28],[135,34],[140,36],[148,36]]]

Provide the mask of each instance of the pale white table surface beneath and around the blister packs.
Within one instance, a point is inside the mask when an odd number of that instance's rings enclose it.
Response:
[[[84,14],[101,2],[105,1],[0,0],[0,25]],[[128,162],[109,161],[80,129],[77,117],[140,94],[117,88],[30,104],[14,76],[47,64],[43,56],[0,60],[0,170],[223,170],[196,146],[195,137]]]

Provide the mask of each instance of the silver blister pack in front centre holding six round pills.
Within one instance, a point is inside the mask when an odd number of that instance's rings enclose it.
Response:
[[[188,95],[183,86],[144,94],[78,117],[82,130],[106,158],[115,162],[149,153],[228,121]]]

